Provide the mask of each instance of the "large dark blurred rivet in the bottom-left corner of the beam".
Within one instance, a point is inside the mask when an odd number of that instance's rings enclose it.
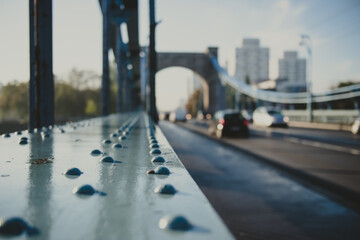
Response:
[[[0,219],[0,236],[14,237],[24,232],[26,232],[28,236],[34,236],[40,233],[37,228],[29,226],[21,218]]]

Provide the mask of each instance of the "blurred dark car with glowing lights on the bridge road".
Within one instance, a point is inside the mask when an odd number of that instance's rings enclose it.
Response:
[[[214,114],[210,124],[210,134],[215,134],[216,137],[222,138],[224,136],[249,136],[248,120],[237,110],[222,110]]]

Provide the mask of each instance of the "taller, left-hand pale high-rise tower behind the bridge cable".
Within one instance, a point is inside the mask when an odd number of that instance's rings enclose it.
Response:
[[[236,48],[234,77],[241,81],[249,78],[250,83],[269,79],[269,48],[260,47],[260,40],[244,38],[241,48]]]

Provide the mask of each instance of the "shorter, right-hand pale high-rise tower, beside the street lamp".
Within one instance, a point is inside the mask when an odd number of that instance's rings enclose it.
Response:
[[[285,51],[284,58],[279,59],[278,80],[277,91],[306,91],[306,60],[298,58],[296,51]]]

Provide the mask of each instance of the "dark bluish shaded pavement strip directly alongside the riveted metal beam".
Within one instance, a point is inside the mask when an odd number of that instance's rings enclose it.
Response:
[[[236,238],[360,239],[355,211],[253,155],[169,122],[160,127]],[[257,138],[239,141],[251,144]]]

